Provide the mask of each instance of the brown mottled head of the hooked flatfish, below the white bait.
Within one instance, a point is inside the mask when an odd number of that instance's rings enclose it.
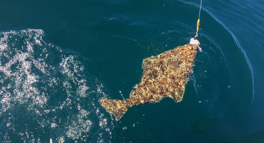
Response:
[[[179,54],[180,60],[185,63],[193,63],[196,57],[197,45],[195,44],[186,44],[180,47]]]

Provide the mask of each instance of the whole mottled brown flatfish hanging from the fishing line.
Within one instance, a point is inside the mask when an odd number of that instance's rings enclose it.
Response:
[[[146,58],[142,63],[144,71],[141,82],[134,86],[128,99],[109,100],[103,97],[99,102],[116,120],[133,105],[159,102],[164,97],[180,102],[195,56],[196,46],[186,44]]]

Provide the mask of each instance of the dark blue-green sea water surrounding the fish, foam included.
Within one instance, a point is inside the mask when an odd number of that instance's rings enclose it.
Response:
[[[203,0],[183,100],[133,106],[142,60],[195,36],[200,1],[2,1],[1,142],[264,142],[264,2]],[[253,134],[253,135],[252,135]]]

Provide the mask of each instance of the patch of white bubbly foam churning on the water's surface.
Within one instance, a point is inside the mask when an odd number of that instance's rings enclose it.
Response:
[[[21,138],[36,140],[38,129],[46,128],[50,132],[64,130],[58,134],[58,142],[64,142],[64,136],[85,140],[88,135],[99,138],[90,131],[97,127],[93,124],[103,122],[100,129],[93,130],[108,132],[100,139],[110,140],[114,128],[112,117],[108,115],[108,121],[96,107],[99,106],[98,98],[88,98],[91,94],[106,96],[105,88],[98,79],[91,81],[83,76],[84,66],[80,61],[83,59],[74,53],[66,55],[59,47],[43,41],[43,37],[44,32],[38,29],[0,33],[0,114],[7,116],[9,111],[16,112],[13,111],[16,108],[27,114],[27,119],[38,123],[32,127],[33,131],[21,125],[21,129],[12,129],[12,134],[21,133]],[[61,120],[59,116],[64,116],[65,111],[69,111],[69,115]],[[5,123],[8,127],[13,122],[19,124],[13,118]],[[20,120],[27,119],[20,117]],[[9,128],[3,130],[9,132]],[[45,142],[46,138],[38,140]]]

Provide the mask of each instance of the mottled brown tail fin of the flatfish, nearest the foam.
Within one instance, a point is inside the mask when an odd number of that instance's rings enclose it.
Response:
[[[115,116],[116,121],[118,121],[125,114],[125,112],[132,106],[132,103],[129,102],[129,99],[110,100],[103,97],[102,99],[99,100],[99,102],[100,105],[103,106],[107,112]]]

